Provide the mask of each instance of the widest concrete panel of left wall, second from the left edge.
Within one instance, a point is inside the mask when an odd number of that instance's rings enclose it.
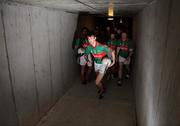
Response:
[[[12,85],[21,125],[38,120],[38,97],[34,75],[29,10],[3,6]]]

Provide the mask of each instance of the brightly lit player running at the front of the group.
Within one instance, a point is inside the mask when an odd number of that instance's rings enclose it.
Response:
[[[102,60],[106,56],[112,57],[112,63],[109,66],[111,67],[115,63],[115,54],[113,51],[111,51],[110,48],[97,42],[94,34],[88,35],[88,41],[90,43],[90,46],[86,48],[85,54],[86,55],[92,54],[92,56],[94,57],[94,68],[97,74],[95,83],[99,89],[98,91],[100,93],[99,99],[101,99],[103,98],[103,93],[105,92],[104,85],[102,84],[101,81],[107,69],[107,66],[102,63]],[[89,62],[92,64],[92,61]]]

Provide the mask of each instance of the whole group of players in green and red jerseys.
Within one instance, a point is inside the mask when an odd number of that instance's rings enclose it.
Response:
[[[126,68],[126,78],[129,78],[129,64],[133,54],[132,41],[128,39],[128,34],[120,29],[110,27],[101,35],[101,31],[96,28],[94,32],[84,27],[80,35],[75,39],[74,50],[77,54],[78,63],[81,66],[82,84],[90,81],[91,72],[95,70],[95,84],[98,88],[99,99],[102,99],[106,91],[102,79],[105,74],[108,78],[113,78],[118,73],[117,85],[122,85],[123,68]]]

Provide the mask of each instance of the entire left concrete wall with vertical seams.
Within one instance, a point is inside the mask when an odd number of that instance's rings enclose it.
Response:
[[[20,4],[1,8],[0,125],[34,125],[75,81],[77,15]]]

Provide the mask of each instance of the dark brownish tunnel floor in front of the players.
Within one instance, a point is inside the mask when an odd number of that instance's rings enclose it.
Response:
[[[98,99],[93,82],[78,81],[37,126],[135,126],[135,104],[131,80],[119,87],[106,81],[105,97]]]

